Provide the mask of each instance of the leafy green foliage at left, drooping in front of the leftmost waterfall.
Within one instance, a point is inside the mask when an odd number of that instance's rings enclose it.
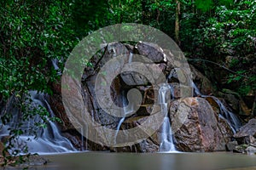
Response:
[[[0,100],[8,104],[9,99],[14,97],[16,107],[22,114],[20,124],[10,129],[4,156],[14,149],[20,134],[26,133],[21,128],[22,123],[40,116],[44,122],[36,123],[38,126],[35,128],[41,128],[49,121],[49,113],[40,106],[31,109],[26,96],[29,90],[51,94],[50,84],[60,78],[51,66],[51,59],[58,59],[62,69],[78,39],[71,25],[69,2],[8,0],[1,4]],[[9,122],[11,116],[11,112],[4,111],[1,124]],[[20,150],[12,150],[10,156],[5,156],[5,162],[26,151],[26,145]]]

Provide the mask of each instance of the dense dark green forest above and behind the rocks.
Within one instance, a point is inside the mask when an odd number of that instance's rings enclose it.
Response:
[[[75,45],[117,23],[153,26],[172,37],[215,87],[245,96],[255,90],[256,2],[253,0],[17,0],[0,8],[1,98],[49,83]]]

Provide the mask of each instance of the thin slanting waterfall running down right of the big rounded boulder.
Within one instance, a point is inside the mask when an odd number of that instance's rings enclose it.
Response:
[[[241,127],[241,121],[239,118],[231,111],[229,111],[226,106],[220,101],[220,99],[209,96],[209,95],[203,95],[201,94],[200,90],[196,87],[195,82],[192,81],[192,86],[195,91],[196,96],[201,96],[202,98],[212,98],[219,107],[219,117],[224,119],[228,124],[230,125],[233,133],[236,133],[237,130]]]

